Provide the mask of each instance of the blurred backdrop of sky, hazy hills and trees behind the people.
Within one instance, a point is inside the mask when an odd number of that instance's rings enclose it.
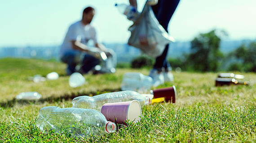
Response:
[[[138,1],[141,11],[146,0]],[[128,0],[0,1],[0,58],[59,61],[58,51],[69,25],[92,6],[100,42],[117,54],[118,67],[152,66],[154,59],[128,46],[132,21],[115,3]],[[173,70],[256,72],[255,0],[181,0],[169,23],[168,59]]]

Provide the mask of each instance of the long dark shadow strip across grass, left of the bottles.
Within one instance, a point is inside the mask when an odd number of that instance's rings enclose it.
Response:
[[[83,95],[99,95],[102,93],[111,93],[111,92],[117,92],[117,91],[121,91],[120,88],[117,89],[104,89],[102,91],[97,91],[97,92],[88,92],[88,93],[71,93],[71,94],[64,94],[63,96],[59,96],[59,97],[47,97],[47,98],[42,98],[39,100],[17,100],[15,98],[13,98],[12,100],[8,100],[8,101],[4,101],[4,102],[0,102],[0,107],[3,108],[10,108],[13,107],[15,104],[42,104],[44,102],[49,102],[49,103],[53,103],[53,102],[57,102],[57,101],[62,101],[62,100],[72,100],[75,97],[79,97],[79,96],[83,96]]]

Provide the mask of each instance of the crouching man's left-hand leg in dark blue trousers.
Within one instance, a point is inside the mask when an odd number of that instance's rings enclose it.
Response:
[[[77,51],[67,51],[61,57],[62,62],[67,63],[66,73],[71,75],[75,72],[75,66],[79,62],[80,53]]]

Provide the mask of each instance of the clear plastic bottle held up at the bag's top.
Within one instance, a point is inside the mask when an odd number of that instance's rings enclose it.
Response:
[[[120,13],[126,15],[128,20],[133,22],[137,21],[140,13],[133,6],[128,4],[115,4],[115,7],[117,7]]]

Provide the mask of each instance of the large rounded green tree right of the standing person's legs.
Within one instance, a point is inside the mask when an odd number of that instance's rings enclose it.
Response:
[[[216,30],[199,34],[191,41],[191,53],[187,63],[195,71],[217,71],[223,54],[220,51],[221,38],[216,35]]]

